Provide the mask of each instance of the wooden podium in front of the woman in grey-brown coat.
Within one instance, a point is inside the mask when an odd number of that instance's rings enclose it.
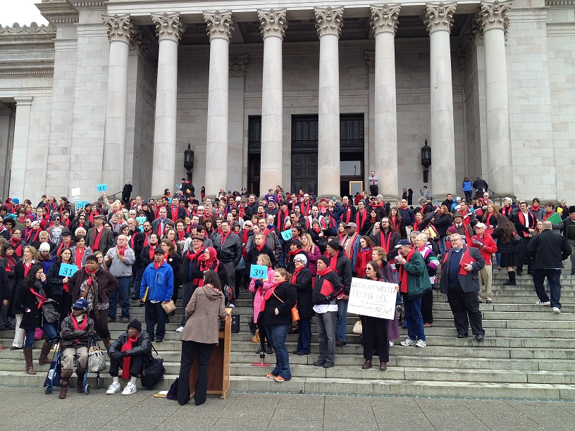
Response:
[[[232,308],[226,308],[228,317],[225,318],[223,330],[219,331],[218,345],[211,351],[208,370],[208,394],[221,394],[225,399],[230,392],[230,352],[232,341]],[[194,359],[190,370],[190,393],[196,392],[197,358]]]

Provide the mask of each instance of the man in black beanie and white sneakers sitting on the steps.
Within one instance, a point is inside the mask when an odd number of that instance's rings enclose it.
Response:
[[[143,278],[142,278],[143,280]],[[142,374],[144,363],[151,363],[152,339],[147,332],[142,332],[142,323],[134,319],[128,323],[128,331],[108,346],[110,356],[110,375],[113,382],[106,394],[116,394],[120,391],[119,369],[122,368],[122,378],[130,381],[125,385],[122,395],[131,395],[136,392],[137,376]]]

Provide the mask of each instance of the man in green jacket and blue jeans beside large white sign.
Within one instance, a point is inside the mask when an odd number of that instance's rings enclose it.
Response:
[[[409,239],[400,239],[395,248],[400,251],[395,257],[395,263],[400,265],[400,292],[407,320],[407,339],[401,342],[401,345],[425,347],[427,344],[421,317],[421,296],[431,289],[426,263],[421,253],[412,249]]]

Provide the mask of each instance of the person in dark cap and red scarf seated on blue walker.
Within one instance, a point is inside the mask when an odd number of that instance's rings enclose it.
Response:
[[[78,368],[76,369],[76,392],[82,394],[84,375],[88,367],[88,344],[94,335],[94,320],[88,317],[88,301],[83,298],[75,301],[70,316],[64,318],[60,331],[60,349],[63,363],[60,381],[62,388],[58,398],[66,398],[70,376],[74,368],[74,357],[78,356]]]

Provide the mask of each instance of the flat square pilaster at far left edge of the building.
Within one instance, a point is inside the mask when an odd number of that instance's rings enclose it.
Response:
[[[15,97],[16,119],[14,120],[14,138],[12,145],[12,165],[10,175],[10,196],[23,201],[27,196],[34,194],[34,191],[27,189],[26,180],[35,175],[28,172],[28,137],[30,136],[30,113],[32,112],[33,96]],[[32,157],[30,157],[32,159]]]

